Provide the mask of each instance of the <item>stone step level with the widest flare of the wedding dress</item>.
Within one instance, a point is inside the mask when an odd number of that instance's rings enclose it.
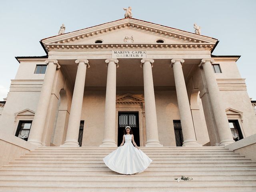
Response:
[[[42,166],[42,165],[48,165],[48,166],[106,166],[103,162],[103,160],[86,160],[83,163],[51,163],[51,162],[10,162],[10,166],[20,165],[20,166]],[[224,162],[224,163],[170,163],[168,160],[154,160],[150,166],[186,166],[186,167],[192,167],[192,166],[239,166],[239,165],[253,165],[256,166],[256,162],[236,162],[236,163],[230,163],[230,162]]]

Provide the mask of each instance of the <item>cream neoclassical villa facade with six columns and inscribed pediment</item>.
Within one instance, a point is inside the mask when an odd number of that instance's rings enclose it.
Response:
[[[40,41],[16,57],[0,130],[37,146],[226,146],[256,133],[240,56],[218,40],[124,18]]]

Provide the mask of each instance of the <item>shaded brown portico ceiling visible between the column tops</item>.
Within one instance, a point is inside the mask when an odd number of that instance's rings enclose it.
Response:
[[[118,59],[119,67],[116,69],[117,87],[143,87],[143,69],[140,67],[140,59]],[[72,84],[76,79],[77,64],[75,60],[58,60],[61,69],[68,74]],[[182,65],[184,78],[192,74],[200,60],[187,59]],[[90,68],[86,70],[85,87],[106,87],[107,67],[105,60],[89,60]],[[155,87],[174,87],[173,69],[170,67],[170,59],[155,59],[153,68],[153,81]]]

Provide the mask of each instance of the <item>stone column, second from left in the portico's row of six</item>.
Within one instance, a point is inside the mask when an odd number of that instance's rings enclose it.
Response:
[[[78,68],[68,120],[67,136],[66,141],[61,146],[79,147],[78,135],[84,98],[85,75],[86,68],[89,68],[90,65],[87,59],[78,59],[76,63],[78,64]]]

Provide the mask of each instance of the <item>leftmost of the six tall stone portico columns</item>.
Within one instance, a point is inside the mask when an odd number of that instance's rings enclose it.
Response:
[[[54,82],[54,75],[56,68],[60,68],[58,61],[55,59],[48,59],[45,61],[47,70],[44,76],[44,82],[39,97],[38,106],[36,108],[36,114],[32,121],[28,142],[42,146],[42,135],[44,132],[44,125],[47,116],[50,96],[52,92],[52,86]]]

